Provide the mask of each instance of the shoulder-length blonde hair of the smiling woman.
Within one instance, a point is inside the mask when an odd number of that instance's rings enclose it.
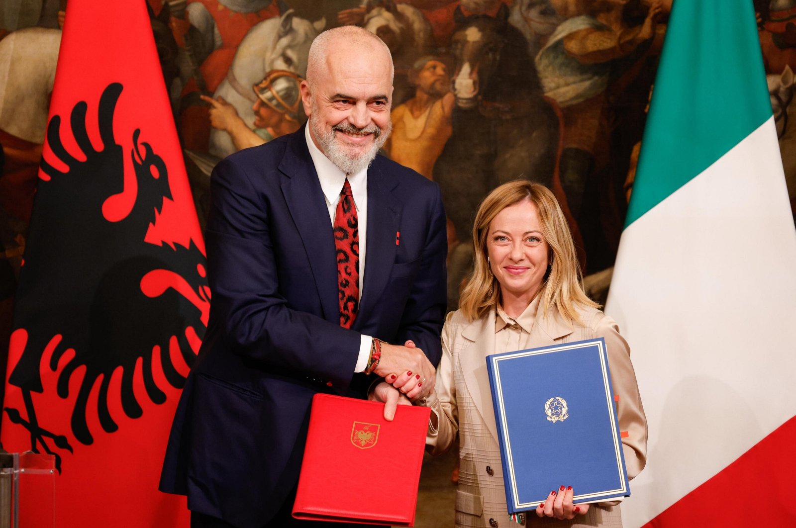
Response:
[[[500,299],[500,284],[490,271],[486,250],[490,224],[503,209],[525,200],[536,206],[542,235],[549,248],[550,267],[544,274],[542,287],[538,293],[541,296],[544,315],[547,315],[549,309],[553,307],[570,324],[573,321],[580,322],[578,306],[599,305],[583,292],[575,243],[572,242],[567,219],[550,189],[527,180],[502,184],[490,192],[478,207],[473,226],[474,270],[470,281],[462,290],[459,309],[469,320],[475,320],[486,315],[497,305]]]

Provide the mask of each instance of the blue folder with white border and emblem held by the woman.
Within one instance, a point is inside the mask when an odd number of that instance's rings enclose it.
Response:
[[[630,495],[603,338],[486,357],[509,514]]]

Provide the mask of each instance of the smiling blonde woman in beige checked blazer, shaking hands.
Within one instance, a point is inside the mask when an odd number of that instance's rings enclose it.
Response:
[[[630,349],[615,321],[583,293],[572,235],[552,192],[529,181],[494,189],[478,208],[473,243],[474,273],[460,308],[447,316],[435,388],[414,403],[433,411],[426,440],[431,452],[446,451],[460,437],[455,526],[517,526],[505,503],[486,355],[603,337],[619,428],[627,432],[622,445],[630,479],[645,464],[646,417]],[[396,390],[416,399],[422,380],[404,373],[387,382],[374,398],[394,403]],[[555,445],[539,452],[558,456]],[[622,525],[616,502],[573,505],[575,490],[560,484],[521,524]]]

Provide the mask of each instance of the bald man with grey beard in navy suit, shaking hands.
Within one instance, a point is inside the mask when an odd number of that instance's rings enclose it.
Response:
[[[194,528],[327,526],[291,518],[313,395],[365,398],[407,371],[408,398],[434,387],[445,213],[436,184],[377,155],[392,75],[373,33],[322,33],[300,86],[307,125],[213,171],[213,308],[160,483],[188,495]],[[374,477],[362,468],[356,485]]]

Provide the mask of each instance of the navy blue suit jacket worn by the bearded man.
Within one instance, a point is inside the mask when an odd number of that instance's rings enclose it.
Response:
[[[192,511],[253,528],[298,481],[313,395],[365,397],[372,379],[353,374],[361,334],[411,339],[439,362],[446,220],[436,184],[376,157],[365,283],[349,330],[339,325],[332,225],[303,129],[221,161],[211,199],[209,325],[160,489],[188,495]]]

